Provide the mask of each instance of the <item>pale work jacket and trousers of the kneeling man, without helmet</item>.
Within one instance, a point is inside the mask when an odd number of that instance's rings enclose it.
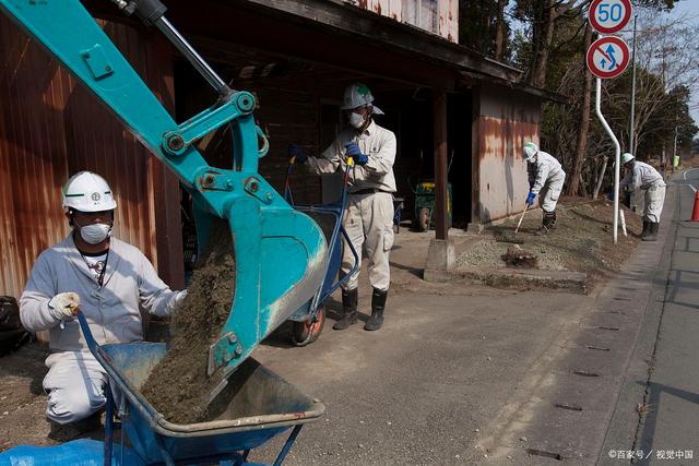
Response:
[[[49,312],[49,300],[74,291],[96,342],[134,343],[143,339],[141,310],[168,315],[177,304],[171,291],[151,262],[137,248],[110,239],[103,285],[75,247],[72,232],[39,255],[20,298],[20,318],[31,332],[49,332],[51,355],[44,379],[48,392],[46,415],[58,423],[84,419],[105,404],[107,381],[80,331],[78,320],[62,324]],[[63,328],[61,328],[63,326]]]

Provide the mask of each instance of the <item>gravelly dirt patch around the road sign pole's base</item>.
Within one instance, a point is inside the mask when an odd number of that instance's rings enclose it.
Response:
[[[505,268],[502,255],[517,239],[521,247],[536,254],[538,268],[549,271],[584,272],[595,277],[617,270],[633,251],[642,228],[638,215],[625,210],[629,235],[619,231],[618,243],[612,242],[611,202],[579,198],[564,200],[557,210],[558,224],[553,232],[535,236],[541,226],[541,211],[528,213],[517,236],[519,218],[511,218],[486,230],[483,240],[457,259],[461,271]],[[500,239],[500,240],[498,240]]]

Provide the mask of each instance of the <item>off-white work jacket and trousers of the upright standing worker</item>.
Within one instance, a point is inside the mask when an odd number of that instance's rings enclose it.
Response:
[[[369,260],[368,273],[371,286],[387,291],[391,283],[389,252],[393,247],[393,194],[395,177],[395,134],[376,124],[357,134],[346,130],[337,135],[334,143],[320,157],[308,157],[310,168],[317,174],[334,174],[345,169],[345,145],[355,142],[368,162],[355,165],[350,170],[350,196],[343,225],[352,240],[362,264],[363,248]],[[354,264],[350,248],[343,248],[342,271],[348,273]],[[344,289],[358,286],[359,271],[352,275]]]

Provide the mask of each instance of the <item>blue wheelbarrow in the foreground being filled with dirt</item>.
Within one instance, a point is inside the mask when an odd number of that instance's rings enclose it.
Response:
[[[165,356],[163,343],[99,346],[84,315],[78,320],[91,353],[109,377],[104,465],[197,465],[248,463],[251,450],[291,430],[275,465],[282,464],[301,427],[318,419],[324,405],[298,391],[271,370],[248,358],[232,375],[216,402],[214,420],[191,425],[169,422],[140,393],[155,365]],[[118,420],[117,420],[118,419]],[[120,431],[120,435],[116,434]],[[116,442],[115,438],[120,437]],[[127,459],[128,458],[128,459]]]

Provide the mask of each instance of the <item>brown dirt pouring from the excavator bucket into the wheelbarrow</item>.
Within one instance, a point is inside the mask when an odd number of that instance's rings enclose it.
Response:
[[[206,405],[222,375],[206,374],[209,346],[228,319],[234,285],[230,230],[227,223],[216,222],[187,298],[173,315],[168,351],[141,387],[145,399],[170,422],[203,422],[213,416]]]

